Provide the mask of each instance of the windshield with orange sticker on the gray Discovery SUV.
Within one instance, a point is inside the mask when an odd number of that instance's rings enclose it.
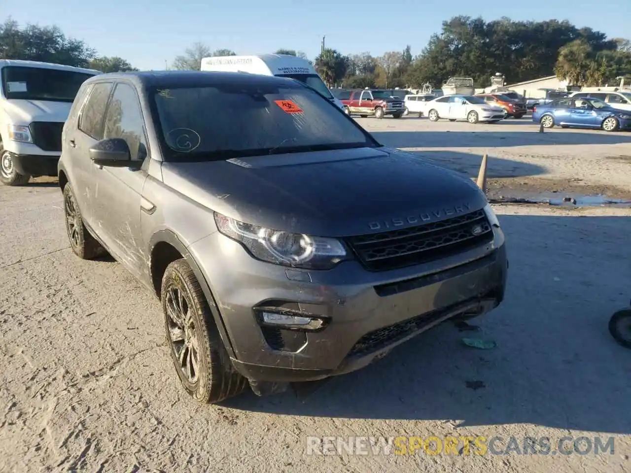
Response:
[[[150,91],[167,161],[379,146],[313,90],[226,84]]]

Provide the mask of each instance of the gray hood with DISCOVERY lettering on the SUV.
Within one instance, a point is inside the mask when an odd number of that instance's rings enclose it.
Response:
[[[208,209],[314,236],[378,233],[396,222],[404,228],[439,221],[487,203],[468,177],[385,147],[163,163],[162,175]]]

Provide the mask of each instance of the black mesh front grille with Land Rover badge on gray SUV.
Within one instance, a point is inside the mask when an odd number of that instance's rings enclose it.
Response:
[[[350,237],[346,242],[366,269],[387,271],[449,257],[492,239],[487,216],[478,210],[425,225]]]

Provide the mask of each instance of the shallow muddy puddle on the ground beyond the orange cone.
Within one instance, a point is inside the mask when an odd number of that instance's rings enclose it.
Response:
[[[493,194],[497,194],[497,192]],[[611,197],[603,195],[583,196],[581,194],[565,194],[563,192],[510,192],[510,195],[506,196],[489,196],[489,201],[497,204],[548,204],[551,206],[564,207],[607,206],[631,208],[631,199],[612,199]]]

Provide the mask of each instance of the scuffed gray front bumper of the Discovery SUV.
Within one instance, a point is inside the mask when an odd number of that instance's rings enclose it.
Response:
[[[370,272],[356,261],[303,271],[253,259],[220,233],[189,247],[208,281],[235,368],[251,380],[302,382],[357,370],[455,315],[503,300],[504,234],[481,247],[413,267]],[[324,318],[313,332],[262,327],[254,308]]]

